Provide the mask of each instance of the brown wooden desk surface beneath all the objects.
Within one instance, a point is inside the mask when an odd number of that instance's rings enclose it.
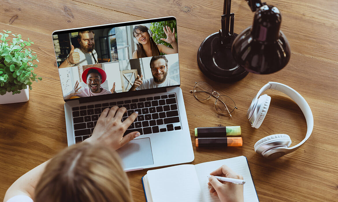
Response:
[[[34,3],[33,3],[34,2]],[[36,72],[43,80],[34,83],[26,103],[0,106],[0,200],[21,175],[67,147],[64,100],[56,67],[51,33],[57,29],[93,26],[146,18],[175,16],[179,45],[181,88],[192,144],[194,128],[240,125],[243,147],[195,148],[193,164],[244,155],[247,157],[260,201],[335,201],[338,198],[338,2],[330,0],[269,0],[283,16],[281,30],[291,46],[291,59],[271,75],[249,73],[231,84],[214,82],[199,70],[200,43],[220,29],[221,0],[107,1],[38,0],[0,2],[1,30],[31,39],[39,57]],[[251,25],[254,13],[245,1],[233,0],[236,33]],[[236,102],[233,118],[220,116],[212,101],[201,103],[189,90],[194,81],[206,81]],[[297,151],[276,160],[255,153],[254,144],[270,134],[289,134],[292,145],[303,140],[306,122],[299,107],[287,96],[267,91],[269,112],[259,129],[251,128],[246,111],[251,99],[268,81],[289,85],[309,103],[314,129]],[[135,201],[145,201],[141,177],[146,170],[129,172]]]

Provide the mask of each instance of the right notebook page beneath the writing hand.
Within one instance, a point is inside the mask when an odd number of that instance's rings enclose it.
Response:
[[[252,182],[250,170],[248,167],[247,160],[244,156],[238,156],[234,158],[228,158],[217,161],[210,161],[206,163],[200,163],[195,165],[196,173],[198,176],[199,184],[202,190],[202,197],[204,201],[219,201],[217,196],[213,196],[209,189],[211,186],[208,186],[208,175],[218,169],[219,167],[227,165],[233,171],[243,176],[245,180],[244,186],[244,201],[258,201],[254,183]],[[231,194],[231,193],[229,193]]]

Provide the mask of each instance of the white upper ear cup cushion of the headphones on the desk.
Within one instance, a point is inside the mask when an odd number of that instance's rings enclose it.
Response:
[[[256,116],[252,117],[254,118],[254,121],[252,122],[252,127],[259,128],[266,116],[266,113],[268,112],[269,106],[270,106],[271,97],[264,94],[258,98],[257,106],[255,108],[256,110]]]

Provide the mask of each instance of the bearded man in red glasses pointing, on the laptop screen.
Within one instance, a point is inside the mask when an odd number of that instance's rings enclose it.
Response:
[[[168,59],[164,55],[153,56],[150,60],[150,68],[152,78],[148,78],[142,81],[143,75],[137,75],[134,84],[129,91],[152,89],[164,86],[178,85],[178,83],[172,79],[167,79],[168,74]]]

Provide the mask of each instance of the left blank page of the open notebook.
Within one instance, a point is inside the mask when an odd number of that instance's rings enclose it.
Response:
[[[194,165],[149,170],[147,178],[154,202],[203,201]]]

